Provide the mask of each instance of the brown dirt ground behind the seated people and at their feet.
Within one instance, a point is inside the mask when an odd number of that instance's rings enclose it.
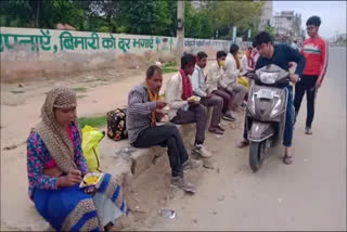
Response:
[[[164,82],[170,75],[164,75]],[[30,128],[39,121],[46,92],[54,86],[68,86],[77,90],[78,116],[105,115],[111,109],[126,106],[129,90],[144,77],[143,68],[121,68],[1,85],[1,186],[5,186],[1,188],[1,230],[23,229],[22,219],[27,214],[36,214],[33,207],[27,209],[31,203],[27,196],[25,141]],[[169,188],[167,158],[160,157],[159,162],[163,163],[160,169],[146,170],[133,182],[128,196],[132,214],[124,227],[141,230],[150,225],[160,207],[176,195],[183,194]],[[187,178],[198,179],[200,172],[206,170],[202,168],[188,173]],[[18,210],[21,206],[26,210]],[[28,224],[24,228],[30,230],[35,227]]]

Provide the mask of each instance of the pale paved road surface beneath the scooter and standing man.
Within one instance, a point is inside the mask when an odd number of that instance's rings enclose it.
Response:
[[[346,230],[346,48],[331,48],[317,102],[313,134],[305,136],[306,101],[294,134],[295,160],[283,147],[253,173],[247,150],[235,149],[241,129],[209,141],[219,172],[192,180],[194,196],[175,197],[176,219],[157,218],[149,230]],[[241,125],[239,125],[241,128]]]

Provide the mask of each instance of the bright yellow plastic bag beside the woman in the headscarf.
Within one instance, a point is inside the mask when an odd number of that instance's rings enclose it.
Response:
[[[93,127],[85,126],[82,129],[82,151],[90,171],[100,170],[99,142],[104,134]]]

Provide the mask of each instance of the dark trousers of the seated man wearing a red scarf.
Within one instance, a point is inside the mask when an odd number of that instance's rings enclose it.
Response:
[[[177,125],[196,124],[195,144],[203,144],[207,124],[207,111],[202,104],[193,105],[188,111],[178,109],[177,115],[171,119]]]

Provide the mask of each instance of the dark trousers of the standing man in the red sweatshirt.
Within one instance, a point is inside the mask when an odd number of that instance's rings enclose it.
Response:
[[[301,81],[295,86],[295,98],[294,98],[294,107],[295,116],[298,115],[301,101],[306,92],[307,100],[307,116],[306,116],[306,127],[311,127],[313,117],[314,117],[314,100],[317,91],[314,88],[318,76],[307,76],[304,75]]]

